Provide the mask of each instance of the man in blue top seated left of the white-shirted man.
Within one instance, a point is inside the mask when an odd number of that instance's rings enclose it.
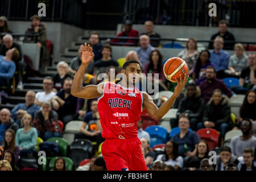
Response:
[[[15,120],[19,127],[21,127],[21,118],[24,114],[28,113],[35,117],[36,111],[40,110],[40,106],[35,105],[35,92],[34,90],[28,90],[25,97],[25,103],[17,104],[13,110],[11,110],[11,118]]]

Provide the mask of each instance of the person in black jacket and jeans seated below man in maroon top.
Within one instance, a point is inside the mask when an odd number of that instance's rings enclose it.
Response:
[[[224,139],[229,129],[232,129],[233,122],[230,118],[230,106],[228,97],[222,96],[220,89],[213,90],[213,96],[205,105],[202,122],[197,124],[197,129],[213,128],[220,131],[221,138]]]

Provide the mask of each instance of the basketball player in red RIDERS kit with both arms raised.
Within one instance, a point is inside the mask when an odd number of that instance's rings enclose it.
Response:
[[[81,46],[82,63],[77,71],[71,94],[81,98],[98,97],[98,113],[102,127],[102,156],[106,167],[111,171],[146,171],[147,166],[141,151],[141,142],[137,137],[137,122],[141,119],[142,107],[147,113],[159,120],[170,110],[175,99],[188,81],[188,76],[178,82],[174,94],[159,108],[154,104],[151,96],[146,92],[140,92],[137,88],[126,88],[129,82],[135,83],[137,76],[141,73],[138,61],[129,60],[123,64],[122,73],[127,80],[122,84],[104,82],[98,85],[87,85],[82,87],[82,78],[94,54],[90,45]],[[131,74],[133,77],[129,77]]]

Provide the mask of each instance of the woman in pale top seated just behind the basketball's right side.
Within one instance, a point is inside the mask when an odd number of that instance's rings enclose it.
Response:
[[[186,43],[186,48],[179,52],[177,57],[180,57],[188,64],[188,75],[191,75],[191,73],[193,73],[193,68],[196,65],[196,60],[199,57],[196,40],[189,38]]]

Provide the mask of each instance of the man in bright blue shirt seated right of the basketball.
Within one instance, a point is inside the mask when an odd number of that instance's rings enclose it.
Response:
[[[229,53],[222,50],[224,40],[221,36],[217,36],[214,39],[214,49],[210,51],[210,61],[214,64],[217,71],[217,78],[228,77],[225,75],[225,70],[228,69],[229,65]]]

